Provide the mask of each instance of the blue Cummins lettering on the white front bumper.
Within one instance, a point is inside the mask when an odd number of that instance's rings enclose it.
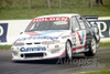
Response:
[[[21,47],[21,52],[33,52],[33,51],[46,51],[45,46],[36,46],[36,47]]]

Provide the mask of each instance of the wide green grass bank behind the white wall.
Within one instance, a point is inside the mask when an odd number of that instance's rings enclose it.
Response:
[[[105,0],[105,6],[97,6],[92,0],[92,9],[89,7],[89,0],[63,0],[62,9],[58,8],[58,0],[51,1],[51,9],[47,8],[46,0],[33,0],[31,9],[28,9],[28,0],[16,0],[14,8],[13,1],[8,0],[7,6],[0,4],[0,20],[33,19],[38,15],[56,13],[110,17],[110,0]],[[0,0],[0,3],[2,3],[2,0]]]

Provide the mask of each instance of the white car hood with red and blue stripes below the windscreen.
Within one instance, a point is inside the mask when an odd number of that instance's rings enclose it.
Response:
[[[50,30],[50,31],[24,32],[19,36],[19,39],[15,42],[56,40],[66,32],[68,31],[67,30]]]

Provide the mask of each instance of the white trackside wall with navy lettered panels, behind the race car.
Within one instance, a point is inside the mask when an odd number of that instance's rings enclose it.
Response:
[[[31,20],[0,20],[0,44],[12,44],[30,22]],[[110,41],[110,17],[101,17],[96,23],[101,42]]]

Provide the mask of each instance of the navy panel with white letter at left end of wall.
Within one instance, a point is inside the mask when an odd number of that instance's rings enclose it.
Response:
[[[0,42],[7,42],[8,23],[0,23]]]

